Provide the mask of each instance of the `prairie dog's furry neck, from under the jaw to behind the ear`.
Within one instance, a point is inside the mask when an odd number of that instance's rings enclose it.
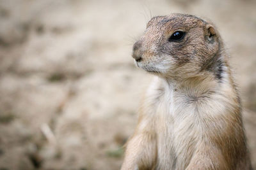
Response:
[[[200,97],[208,92],[220,92],[224,90],[221,89],[223,86],[232,89],[232,78],[225,58],[225,50],[220,49],[194,76],[176,80],[165,77],[163,80],[170,89],[195,97]]]

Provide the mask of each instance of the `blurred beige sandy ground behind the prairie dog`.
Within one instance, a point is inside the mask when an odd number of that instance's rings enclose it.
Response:
[[[230,53],[256,168],[256,1],[0,0],[0,169],[120,169],[150,74],[151,17],[210,18]]]

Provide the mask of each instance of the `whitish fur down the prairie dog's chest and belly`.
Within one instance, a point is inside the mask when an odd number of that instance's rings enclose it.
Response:
[[[180,92],[161,78],[156,78],[149,87],[148,121],[155,121],[158,125],[157,155],[161,159],[157,162],[157,169],[185,169],[204,136],[205,119],[227,112],[225,97],[209,89],[204,93],[204,87],[200,90],[200,97],[195,92]]]

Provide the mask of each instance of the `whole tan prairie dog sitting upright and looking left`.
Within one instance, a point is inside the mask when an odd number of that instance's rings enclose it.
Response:
[[[156,76],[122,170],[252,169],[239,95],[213,24],[180,13],[154,17],[132,57]]]

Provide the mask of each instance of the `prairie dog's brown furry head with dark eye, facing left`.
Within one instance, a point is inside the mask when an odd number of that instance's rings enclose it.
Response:
[[[212,24],[173,13],[148,22],[143,36],[134,43],[132,57],[150,73],[186,78],[208,69],[219,48],[220,36]]]

